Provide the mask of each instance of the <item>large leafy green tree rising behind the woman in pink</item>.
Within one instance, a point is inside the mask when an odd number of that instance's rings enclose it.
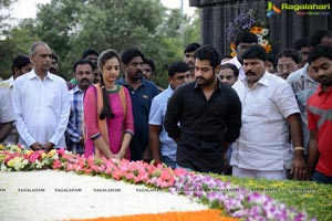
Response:
[[[156,41],[164,11],[157,0],[52,0],[40,7],[37,32],[60,56],[70,77],[72,64],[86,48],[122,52]]]

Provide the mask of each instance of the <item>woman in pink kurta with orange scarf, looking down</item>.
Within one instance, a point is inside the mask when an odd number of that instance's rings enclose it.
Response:
[[[97,65],[102,81],[87,88],[84,97],[85,157],[129,159],[134,118],[127,88],[115,84],[120,56],[116,51],[106,50]]]

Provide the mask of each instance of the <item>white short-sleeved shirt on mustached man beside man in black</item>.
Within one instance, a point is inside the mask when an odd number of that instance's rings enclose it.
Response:
[[[234,88],[242,103],[242,127],[234,143],[231,165],[253,170],[283,170],[293,157],[287,117],[300,113],[291,86],[268,72],[249,88]]]

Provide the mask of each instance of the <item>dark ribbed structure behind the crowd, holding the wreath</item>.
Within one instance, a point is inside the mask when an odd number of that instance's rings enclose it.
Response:
[[[255,9],[258,17],[266,20],[270,31],[269,39],[273,44],[274,54],[283,48],[312,32],[321,29],[332,30],[332,1],[331,0],[270,0],[278,8],[281,3],[289,4],[329,4],[330,10],[300,10],[302,15],[293,10],[281,10],[281,13],[267,18],[268,0],[189,0],[190,7],[200,9],[201,43],[211,44],[226,55],[229,53],[229,41],[226,29],[241,12]],[[308,12],[317,14],[308,14]]]

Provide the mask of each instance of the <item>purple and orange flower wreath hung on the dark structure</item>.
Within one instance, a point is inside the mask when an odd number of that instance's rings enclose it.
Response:
[[[232,22],[229,22],[227,32],[227,40],[232,41],[235,36],[241,31],[250,31],[258,36],[258,43],[266,50],[267,53],[272,51],[272,45],[269,40],[269,29],[264,28],[264,22],[257,19],[252,9],[247,13],[240,13]],[[236,45],[230,43],[231,56],[235,56]]]

